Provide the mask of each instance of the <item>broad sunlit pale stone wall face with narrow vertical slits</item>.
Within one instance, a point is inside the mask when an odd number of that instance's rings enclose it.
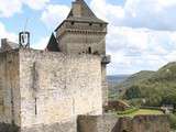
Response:
[[[100,58],[20,51],[21,127],[69,122],[77,114],[101,114]]]

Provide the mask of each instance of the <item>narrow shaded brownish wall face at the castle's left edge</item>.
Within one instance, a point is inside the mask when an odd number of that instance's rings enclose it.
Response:
[[[0,122],[20,127],[19,53],[0,53]]]

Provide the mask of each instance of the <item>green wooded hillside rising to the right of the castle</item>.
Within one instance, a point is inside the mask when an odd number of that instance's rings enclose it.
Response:
[[[176,62],[165,65],[157,72],[134,74],[110,90],[112,97],[119,94],[123,99],[135,100],[135,103],[145,106],[176,103]]]

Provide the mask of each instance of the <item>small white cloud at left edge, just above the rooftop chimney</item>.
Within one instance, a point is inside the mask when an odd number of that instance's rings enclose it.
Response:
[[[2,22],[0,22],[0,38],[9,38],[10,41],[18,42],[18,36],[14,33],[7,31]]]

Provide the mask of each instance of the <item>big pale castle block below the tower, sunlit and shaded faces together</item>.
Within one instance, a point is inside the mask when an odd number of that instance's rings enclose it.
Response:
[[[20,50],[1,53],[0,62],[1,122],[22,132],[62,124],[76,132],[78,114],[102,114],[98,56]]]

